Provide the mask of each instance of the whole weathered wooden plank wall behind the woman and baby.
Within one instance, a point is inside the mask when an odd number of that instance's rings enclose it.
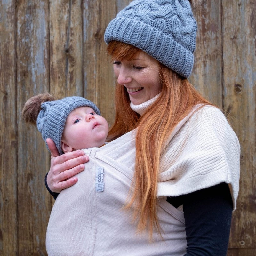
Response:
[[[0,2],[0,255],[47,255],[50,156],[21,120],[39,92],[80,95],[113,122],[114,76],[104,30],[129,0]],[[241,179],[229,256],[256,255],[256,3],[207,1],[195,11],[198,38],[190,81],[229,113],[241,143]]]

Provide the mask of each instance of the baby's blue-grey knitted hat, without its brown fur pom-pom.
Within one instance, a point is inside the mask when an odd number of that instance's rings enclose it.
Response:
[[[60,155],[63,154],[61,138],[67,117],[71,111],[79,107],[90,107],[96,114],[100,115],[100,110],[96,105],[82,97],[66,97],[61,100],[47,101],[41,104],[42,110],[39,112],[36,121],[38,131],[41,132],[44,141],[47,138],[54,141]],[[46,147],[48,148],[47,143]]]

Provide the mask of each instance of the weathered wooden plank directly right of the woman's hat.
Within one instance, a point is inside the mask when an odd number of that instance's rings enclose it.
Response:
[[[190,82],[222,107],[221,0],[204,1],[193,12],[197,21],[195,62]]]

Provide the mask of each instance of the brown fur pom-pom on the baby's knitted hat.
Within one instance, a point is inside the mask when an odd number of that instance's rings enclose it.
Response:
[[[42,109],[41,104],[53,100],[55,98],[49,93],[40,93],[28,99],[22,109],[22,117],[25,122],[36,124],[37,116]]]

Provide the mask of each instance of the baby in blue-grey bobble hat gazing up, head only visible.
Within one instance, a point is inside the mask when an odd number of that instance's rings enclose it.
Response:
[[[37,125],[45,143],[47,138],[54,141],[60,155],[101,147],[108,136],[106,119],[93,102],[82,97],[56,100],[49,93],[38,94],[25,103],[22,116]]]

